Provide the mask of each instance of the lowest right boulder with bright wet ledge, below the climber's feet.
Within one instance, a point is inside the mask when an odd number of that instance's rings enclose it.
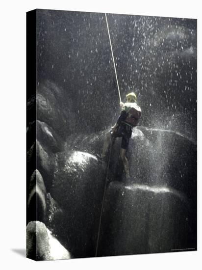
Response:
[[[170,252],[194,244],[187,198],[174,189],[112,182],[98,256]]]

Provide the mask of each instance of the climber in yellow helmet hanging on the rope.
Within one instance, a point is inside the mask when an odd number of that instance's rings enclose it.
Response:
[[[132,135],[132,128],[136,127],[141,116],[141,108],[137,105],[137,98],[134,92],[126,95],[126,103],[120,103],[122,112],[116,122],[106,135],[102,149],[102,158],[106,156],[110,141],[112,142],[117,137],[122,137],[120,157],[124,164],[126,179],[130,179],[129,166],[126,158],[126,150],[128,147],[129,139]]]

